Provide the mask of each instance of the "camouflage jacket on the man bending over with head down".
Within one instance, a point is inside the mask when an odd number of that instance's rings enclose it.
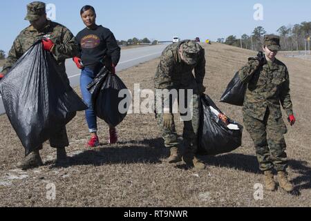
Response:
[[[160,64],[156,70],[154,78],[155,87],[157,89],[172,89],[182,88],[195,80],[197,84],[202,84],[205,77],[205,50],[202,48],[200,58],[196,66],[185,64],[178,53],[179,47],[182,44],[175,43],[167,46],[162,52]]]

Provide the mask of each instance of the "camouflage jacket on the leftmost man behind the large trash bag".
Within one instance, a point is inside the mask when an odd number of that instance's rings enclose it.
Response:
[[[55,43],[51,52],[58,64],[59,73],[64,75],[63,77],[68,80],[66,76],[65,59],[77,54],[75,37],[68,28],[53,21],[47,21],[46,26],[40,32],[35,30],[32,26],[28,26],[28,28],[21,31],[10,49],[8,58],[3,66],[3,74],[8,73],[13,64],[15,64],[32,44],[45,37],[50,38]]]

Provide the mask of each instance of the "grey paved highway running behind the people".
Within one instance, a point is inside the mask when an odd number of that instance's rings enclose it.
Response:
[[[121,50],[121,59],[116,69],[117,71],[124,70],[142,62],[160,57],[165,47],[167,47],[167,44]],[[1,70],[2,67],[0,67],[0,71]],[[66,60],[66,73],[70,80],[71,86],[75,87],[79,85],[80,72],[81,70],[75,66],[72,59]],[[3,113],[6,113],[6,111],[4,110],[3,102],[0,96],[0,115]]]

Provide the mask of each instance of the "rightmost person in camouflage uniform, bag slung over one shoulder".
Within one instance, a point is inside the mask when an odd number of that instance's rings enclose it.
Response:
[[[279,42],[279,37],[266,35],[264,53],[259,52],[258,57],[249,58],[247,65],[239,71],[239,77],[248,83],[243,106],[244,124],[254,141],[260,169],[265,174],[265,187],[275,190],[272,169],[276,169],[280,186],[285,191],[292,191],[293,186],[286,173],[288,159],[284,134],[287,128],[280,103],[289,116],[291,126],[295,117],[288,68],[275,58],[281,49]]]

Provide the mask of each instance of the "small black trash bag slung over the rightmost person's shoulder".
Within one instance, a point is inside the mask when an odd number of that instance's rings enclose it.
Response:
[[[232,81],[228,84],[225,93],[223,93],[223,96],[220,98],[220,102],[243,106],[246,89],[247,83],[241,82],[237,72]]]

